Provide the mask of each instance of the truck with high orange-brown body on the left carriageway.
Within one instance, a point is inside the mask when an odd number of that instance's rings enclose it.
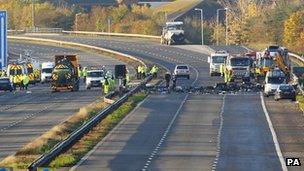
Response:
[[[55,67],[52,72],[52,92],[60,90],[79,90],[77,55],[55,55]]]

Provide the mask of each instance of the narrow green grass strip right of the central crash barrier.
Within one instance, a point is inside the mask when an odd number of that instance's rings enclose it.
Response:
[[[50,167],[59,168],[75,165],[146,96],[146,93],[141,92],[130,97],[126,103],[103,119],[87,135],[82,137],[72,148],[53,160],[50,163]]]

